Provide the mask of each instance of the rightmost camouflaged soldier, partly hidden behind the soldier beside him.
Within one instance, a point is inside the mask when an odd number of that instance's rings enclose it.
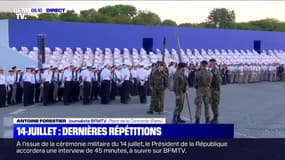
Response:
[[[222,78],[219,69],[217,68],[217,61],[215,59],[210,59],[210,68],[213,75],[213,80],[211,83],[211,108],[214,114],[211,123],[218,123],[219,117],[219,104],[220,104],[220,95],[221,95],[221,83]]]

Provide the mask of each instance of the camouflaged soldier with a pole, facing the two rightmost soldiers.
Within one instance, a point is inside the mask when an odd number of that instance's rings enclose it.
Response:
[[[176,96],[176,107],[173,113],[173,123],[185,123],[185,121],[180,117],[180,114],[183,110],[185,93],[188,87],[187,79],[184,76],[185,67],[185,63],[179,63],[178,70],[174,74],[174,92]]]

